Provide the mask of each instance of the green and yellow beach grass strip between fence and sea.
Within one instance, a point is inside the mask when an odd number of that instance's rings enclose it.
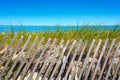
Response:
[[[66,42],[67,40],[70,40],[71,43],[73,42],[73,40],[76,40],[77,42],[80,39],[82,39],[83,42],[88,40],[89,45],[93,39],[96,40],[96,44],[99,39],[102,39],[103,41],[102,44],[107,38],[109,38],[109,43],[111,43],[113,39],[116,39],[116,42],[119,42],[120,40],[120,30],[118,29],[117,26],[114,29],[102,29],[102,30],[100,29],[100,27],[96,28],[94,26],[83,26],[83,27],[78,26],[77,29],[74,29],[73,27],[71,27],[68,30],[62,30],[60,27],[57,27],[55,31],[50,31],[48,29],[48,31],[45,31],[45,32],[27,32],[25,30],[20,32],[14,32],[14,31],[9,32],[9,36],[5,41],[4,46],[9,44],[14,33],[17,33],[17,38],[15,39],[13,45],[15,45],[18,42],[21,35],[24,36],[21,46],[25,43],[29,35],[31,35],[32,37],[30,39],[28,46],[32,44],[36,36],[38,36],[37,44],[42,37],[45,38],[44,43],[46,43],[48,38],[51,38],[52,40],[56,38],[57,44],[59,44],[59,42],[62,39],[64,40],[64,42]],[[3,40],[4,35],[5,33],[0,33],[0,43]]]

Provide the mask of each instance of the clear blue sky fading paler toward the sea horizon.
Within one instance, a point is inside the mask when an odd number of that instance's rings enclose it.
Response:
[[[0,0],[0,25],[120,23],[120,0]]]

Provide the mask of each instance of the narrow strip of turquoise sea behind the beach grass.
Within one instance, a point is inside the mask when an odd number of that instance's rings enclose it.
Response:
[[[26,32],[44,32],[44,31],[57,31],[59,29],[61,30],[68,30],[68,29],[80,29],[84,28],[85,26],[13,26],[13,25],[0,25],[0,32],[20,32],[20,31],[26,31]],[[102,25],[102,26],[89,26],[87,28],[93,28],[93,29],[120,29],[120,26],[115,25]]]

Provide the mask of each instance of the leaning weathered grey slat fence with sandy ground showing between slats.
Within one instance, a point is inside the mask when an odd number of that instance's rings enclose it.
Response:
[[[91,55],[95,39],[86,52],[87,40],[84,44],[82,39],[74,40],[71,44],[69,40],[66,43],[61,40],[56,44],[56,38],[52,41],[49,38],[43,46],[43,37],[35,47],[38,40],[36,36],[25,52],[32,37],[29,36],[18,52],[24,36],[21,36],[18,43],[13,46],[17,36],[15,34],[7,48],[2,51],[8,35],[6,33],[0,43],[1,80],[120,80],[120,42],[116,43],[113,49],[115,39],[111,41],[108,49],[109,39],[105,41],[100,39],[94,54]]]

